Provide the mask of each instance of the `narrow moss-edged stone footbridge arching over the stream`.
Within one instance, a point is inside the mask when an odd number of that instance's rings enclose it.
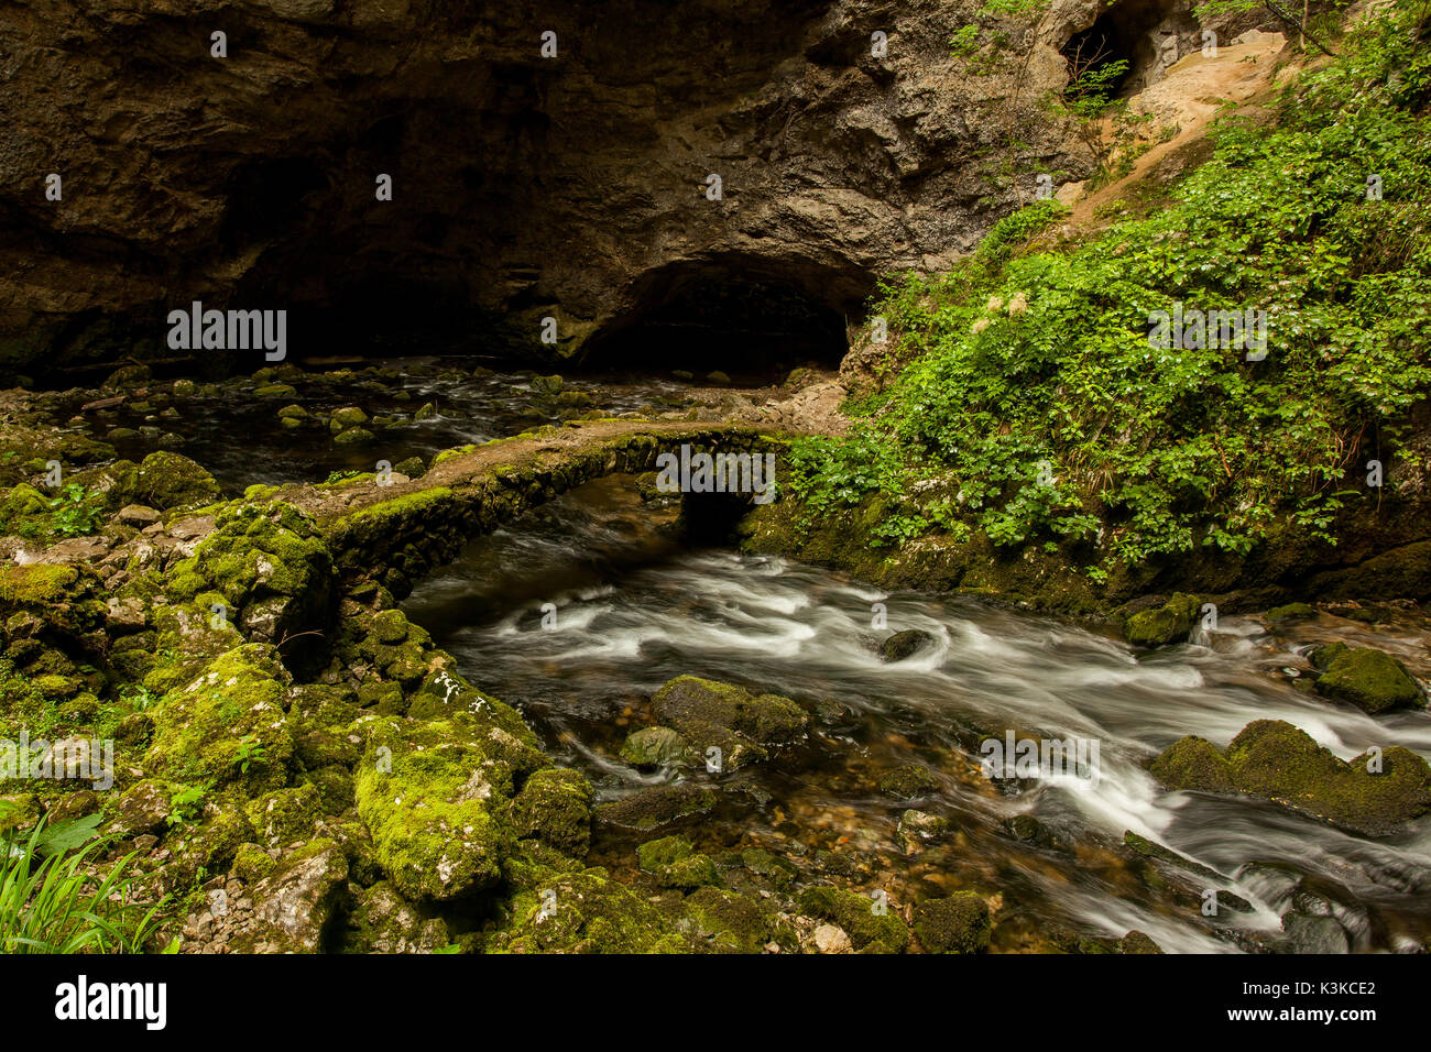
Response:
[[[375,475],[272,494],[312,514],[348,581],[371,575],[399,598],[474,537],[614,474],[657,469],[663,452],[780,452],[787,438],[748,424],[578,421],[438,455],[415,479]]]

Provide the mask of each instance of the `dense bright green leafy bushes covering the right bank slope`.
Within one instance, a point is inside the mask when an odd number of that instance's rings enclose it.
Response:
[[[1059,215],[1039,202],[950,273],[887,281],[903,371],[849,438],[800,448],[796,495],[820,515],[881,494],[876,542],[956,518],[1000,545],[1095,542],[1100,573],[1246,552],[1279,521],[1335,542],[1365,458],[1431,392],[1431,47],[1401,21],[1349,34],[1274,127],[1221,122],[1161,212],[1016,255]],[[1268,358],[1152,346],[1178,302],[1266,311]]]

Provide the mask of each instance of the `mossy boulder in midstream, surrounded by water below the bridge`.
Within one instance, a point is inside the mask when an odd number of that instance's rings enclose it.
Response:
[[[695,676],[681,676],[651,697],[657,719],[675,729],[703,756],[720,749],[723,770],[763,760],[770,749],[798,740],[810,717],[777,694],[753,694]]]

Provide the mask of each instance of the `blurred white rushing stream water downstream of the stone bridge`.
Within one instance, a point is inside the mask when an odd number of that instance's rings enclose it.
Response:
[[[544,604],[555,605],[554,627],[542,624]],[[874,604],[887,610],[883,631],[871,628]],[[1431,822],[1371,840],[1246,797],[1165,793],[1143,769],[1183,734],[1225,746],[1255,719],[1288,720],[1342,759],[1394,743],[1431,756],[1431,717],[1372,720],[1296,690],[1282,668],[1305,661],[1252,620],[1224,618],[1209,646],[1136,656],[975,598],[890,594],[780,558],[684,550],[618,479],[475,541],[405,608],[475,683],[518,706],[560,761],[582,769],[600,799],[663,779],[714,784],[721,807],[681,830],[703,849],[767,847],[811,879],[839,875],[896,905],[977,889],[996,896],[995,949],[1046,948],[1063,929],[1116,937],[1135,927],[1166,950],[1259,949],[1276,943],[1294,896],[1334,916],[1357,950],[1412,949],[1431,935]],[[936,646],[887,664],[874,644],[903,628]],[[1319,631],[1365,641],[1352,623]],[[1421,638],[1375,633],[1408,653]],[[797,698],[819,730],[728,774],[622,763],[621,741],[648,721],[650,694],[687,673]],[[990,781],[977,741],[1005,729],[1096,740],[1096,781]],[[914,800],[880,793],[879,777],[907,764],[937,784]],[[906,854],[906,807],[950,819],[953,834]],[[1053,846],[1006,832],[1025,813]],[[1118,849],[1125,830],[1222,876],[1130,860]],[[600,840],[597,857],[630,870],[633,842]],[[1208,887],[1232,890],[1252,912],[1203,916]]]

